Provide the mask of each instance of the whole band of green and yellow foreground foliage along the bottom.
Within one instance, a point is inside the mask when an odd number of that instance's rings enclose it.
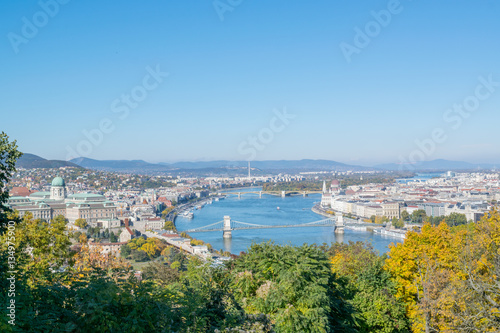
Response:
[[[0,236],[0,302],[26,332],[496,332],[500,215],[477,224],[426,224],[379,256],[364,243],[252,245],[223,266],[157,239],[127,247],[158,259],[138,280],[99,248],[72,251],[67,221],[27,214]],[[84,234],[81,236],[85,237]],[[133,249],[132,249],[133,248]],[[122,251],[124,251],[122,249]],[[130,253],[124,255],[131,255]]]

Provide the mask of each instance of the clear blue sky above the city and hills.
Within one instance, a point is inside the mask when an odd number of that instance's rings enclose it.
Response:
[[[500,162],[498,1],[59,1],[0,5],[24,152]]]

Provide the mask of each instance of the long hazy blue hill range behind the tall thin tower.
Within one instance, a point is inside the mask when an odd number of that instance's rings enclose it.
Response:
[[[142,160],[93,160],[90,158],[76,158],[71,162],[85,168],[108,171],[146,171],[146,172],[207,172],[224,173],[229,169],[241,169],[243,172],[248,166],[247,161],[208,161],[208,162],[176,162],[176,163],[148,163]],[[328,160],[279,160],[279,161],[252,161],[252,169],[273,171],[346,171],[370,170],[373,168],[347,165]]]

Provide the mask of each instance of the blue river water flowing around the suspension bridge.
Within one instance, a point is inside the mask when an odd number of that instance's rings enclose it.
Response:
[[[260,188],[234,190],[233,194],[229,194],[224,200],[214,201],[202,209],[194,210],[193,219],[178,217],[176,219],[177,230],[182,232],[203,227],[222,221],[225,215],[229,215],[233,221],[261,225],[299,224],[325,218],[311,211],[314,204],[321,200],[320,194],[285,198],[263,194],[262,198],[259,198],[258,194],[244,193],[244,191],[259,190]],[[238,199],[234,193],[240,191],[242,195],[241,199]],[[345,230],[344,235],[335,235],[332,227],[233,230],[232,239],[223,239],[222,231],[193,232],[190,235],[212,244],[214,249],[223,249],[234,254],[246,251],[252,242],[260,243],[269,240],[278,244],[292,245],[365,241],[370,242],[380,253],[387,252],[389,244],[402,241],[398,238],[377,235],[368,231],[348,229]]]

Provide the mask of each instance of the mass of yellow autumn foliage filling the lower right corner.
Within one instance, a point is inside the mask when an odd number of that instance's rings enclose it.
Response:
[[[385,269],[414,332],[498,332],[500,214],[477,224],[426,224],[391,248]]]

